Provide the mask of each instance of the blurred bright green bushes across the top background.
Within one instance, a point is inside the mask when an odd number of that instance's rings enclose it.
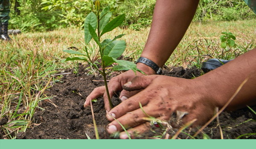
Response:
[[[93,9],[93,0],[17,0],[20,16],[11,0],[10,29],[48,31],[66,26],[83,28],[86,15]],[[113,17],[126,14],[122,27],[140,30],[150,26],[156,0],[100,0],[102,8],[110,5]],[[122,4],[122,2],[124,2]],[[200,0],[193,21],[244,20],[256,15],[243,0]]]

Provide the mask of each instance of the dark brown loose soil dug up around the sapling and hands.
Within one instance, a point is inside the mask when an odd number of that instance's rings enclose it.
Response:
[[[103,77],[101,75],[87,75],[87,70],[85,70],[87,67],[88,66],[82,66],[80,64],[78,74],[71,73],[64,75],[59,82],[45,91],[47,96],[53,97],[50,100],[56,107],[46,100],[40,103],[39,106],[45,110],[38,109],[34,114],[33,121],[33,123],[40,125],[29,128],[26,132],[18,133],[17,139],[87,139],[86,134],[90,136],[90,138],[95,139],[91,109],[90,107],[85,109],[84,102],[90,92],[96,87],[104,86],[104,82],[93,81],[103,80]],[[73,72],[73,70],[67,69],[65,72]],[[193,77],[192,74],[197,77],[200,76],[201,72],[196,67],[186,70],[182,67],[165,67],[163,70],[163,75],[172,77],[191,79]],[[113,76],[114,75],[108,77],[108,80]],[[112,102],[113,105],[116,106],[121,103],[121,100],[116,96],[113,97]],[[256,106],[252,108],[256,111]],[[118,138],[110,136],[106,131],[106,126],[109,121],[105,117],[106,112],[103,97],[99,97],[96,103],[93,102],[93,112],[99,131],[99,138]],[[224,138],[234,139],[239,135],[256,133],[256,122],[250,119],[256,120],[256,115],[248,108],[240,109],[232,113],[223,112],[219,116],[219,121],[220,125],[224,128]],[[247,120],[250,121],[244,123]],[[151,130],[152,131],[146,132],[137,138],[152,138],[153,136],[162,135],[164,131],[155,126],[152,126]],[[174,129],[174,131],[177,132],[177,129]],[[184,132],[193,135],[196,130],[192,129],[189,131],[189,129],[185,129]],[[209,138],[220,139],[220,131],[216,121],[213,121],[205,128],[204,133],[207,134]],[[170,135],[173,136],[174,134],[170,133]],[[178,135],[181,139],[186,139],[187,136],[188,135],[184,133]],[[198,138],[204,138],[204,136],[199,135]],[[256,135],[241,138],[255,139]]]

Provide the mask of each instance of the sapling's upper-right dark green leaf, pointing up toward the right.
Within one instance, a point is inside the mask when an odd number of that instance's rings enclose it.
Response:
[[[100,36],[102,36],[103,34],[112,31],[113,29],[115,29],[116,27],[118,27],[119,25],[121,25],[123,23],[123,21],[125,20],[125,14],[121,14],[117,17],[115,17],[113,20],[111,20],[102,30],[102,33],[100,34]]]

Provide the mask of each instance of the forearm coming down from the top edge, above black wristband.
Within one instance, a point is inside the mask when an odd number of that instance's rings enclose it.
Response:
[[[198,2],[199,0],[157,0],[148,40],[141,57],[163,67],[186,33]],[[148,66],[139,64],[137,67],[142,69]],[[151,71],[148,68],[145,71]]]

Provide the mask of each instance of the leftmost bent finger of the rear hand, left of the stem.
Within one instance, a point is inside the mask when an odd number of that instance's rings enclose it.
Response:
[[[84,103],[84,107],[90,105],[90,100],[93,100],[100,96],[103,96],[105,91],[106,91],[105,86],[101,86],[101,87],[97,87],[97,88],[93,89],[93,92],[91,92],[90,95],[87,96],[85,103]]]

